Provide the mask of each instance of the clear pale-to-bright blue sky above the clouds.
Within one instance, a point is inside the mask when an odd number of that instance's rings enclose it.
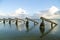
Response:
[[[51,6],[60,8],[60,0],[0,0],[0,11],[6,14],[23,8],[32,15],[37,11],[47,10]]]

